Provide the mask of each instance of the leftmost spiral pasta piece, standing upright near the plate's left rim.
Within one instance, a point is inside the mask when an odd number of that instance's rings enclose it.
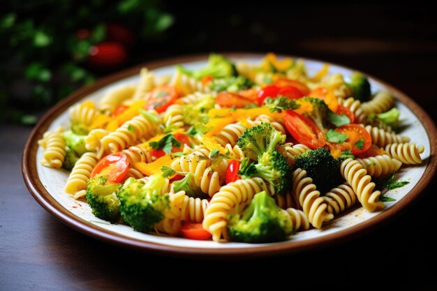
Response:
[[[66,142],[62,128],[47,131],[44,133],[43,138],[38,140],[38,144],[44,148],[43,160],[40,161],[41,165],[47,165],[55,169],[62,167],[66,155]]]

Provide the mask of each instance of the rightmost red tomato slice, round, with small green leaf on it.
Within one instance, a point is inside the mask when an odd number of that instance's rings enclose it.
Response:
[[[335,129],[336,132],[348,135],[348,139],[343,144],[350,149],[352,154],[363,154],[372,144],[372,139],[364,127],[357,124],[346,124]],[[357,147],[356,143],[362,139],[362,148]]]

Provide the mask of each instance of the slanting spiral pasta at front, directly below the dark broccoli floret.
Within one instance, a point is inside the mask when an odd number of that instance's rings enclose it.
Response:
[[[320,228],[334,218],[327,212],[327,203],[320,197],[313,179],[306,177],[305,170],[299,168],[292,173],[292,192],[313,227]]]

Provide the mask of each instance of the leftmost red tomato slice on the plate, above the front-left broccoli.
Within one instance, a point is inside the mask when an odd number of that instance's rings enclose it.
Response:
[[[98,161],[91,172],[90,178],[94,178],[96,174],[98,174],[103,177],[108,177],[108,183],[121,183],[126,179],[128,170],[129,161],[126,154],[109,154]]]

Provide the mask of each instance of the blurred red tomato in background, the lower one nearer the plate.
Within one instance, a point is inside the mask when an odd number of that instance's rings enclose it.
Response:
[[[98,43],[89,49],[88,62],[95,68],[117,68],[126,59],[126,49],[119,43]]]

